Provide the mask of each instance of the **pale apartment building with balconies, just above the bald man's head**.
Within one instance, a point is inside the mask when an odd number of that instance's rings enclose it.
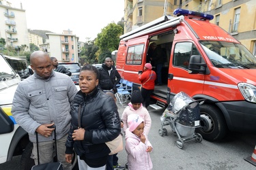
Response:
[[[55,56],[59,63],[80,63],[79,37],[72,31],[63,31],[61,34],[46,33],[46,35],[48,39],[43,46],[50,56]]]

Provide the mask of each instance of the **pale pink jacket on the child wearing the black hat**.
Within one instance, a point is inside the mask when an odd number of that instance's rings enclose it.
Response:
[[[126,129],[128,128],[127,118],[130,114],[137,114],[143,118],[145,127],[144,127],[144,133],[145,135],[148,135],[150,133],[150,128],[152,124],[152,120],[150,118],[150,113],[147,111],[145,107],[141,104],[141,107],[139,109],[134,110],[132,107],[132,103],[128,103],[128,106],[124,109],[124,112],[122,114],[122,121],[124,122],[123,130],[126,132]]]

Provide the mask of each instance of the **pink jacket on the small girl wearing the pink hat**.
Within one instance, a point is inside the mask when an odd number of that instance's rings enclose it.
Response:
[[[128,160],[128,169],[130,170],[151,170],[153,169],[150,152],[146,152],[151,143],[146,139],[145,143],[137,135],[134,135],[129,129],[126,129],[126,153]]]

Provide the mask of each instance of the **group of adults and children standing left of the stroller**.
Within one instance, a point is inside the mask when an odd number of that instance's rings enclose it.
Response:
[[[30,63],[34,73],[18,85],[12,114],[29,134],[35,165],[38,165],[38,153],[40,164],[53,162],[56,141],[57,161],[63,169],[72,168],[74,151],[79,169],[125,169],[119,165],[117,154],[109,155],[111,150],[106,145],[123,129],[128,169],[152,169],[152,145],[147,139],[152,120],[147,112],[147,97],[154,89],[152,82],[156,80],[156,73],[150,63],[139,75],[142,90],[132,92],[122,119],[114,95],[121,76],[111,58],[105,58],[100,69],[89,64],[81,68],[79,91],[55,57],[35,51],[30,56]],[[57,134],[56,139],[53,131]]]

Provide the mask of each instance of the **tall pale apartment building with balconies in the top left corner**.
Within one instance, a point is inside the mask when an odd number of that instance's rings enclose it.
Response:
[[[5,46],[26,45],[25,50],[29,50],[27,33],[26,13],[21,3],[20,8],[16,8],[8,1],[0,1],[0,38],[5,39]]]

